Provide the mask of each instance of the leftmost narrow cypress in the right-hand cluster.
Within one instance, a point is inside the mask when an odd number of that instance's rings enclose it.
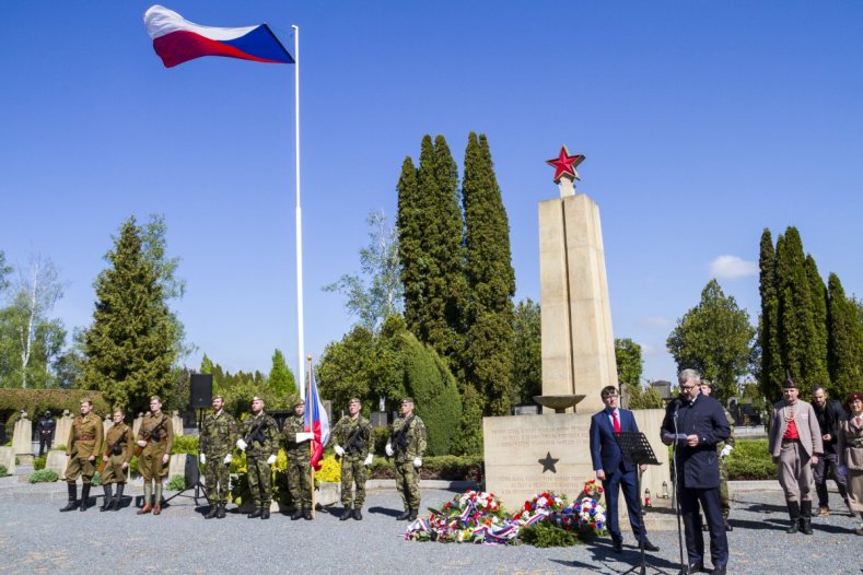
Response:
[[[761,249],[758,258],[759,291],[761,294],[761,317],[759,342],[761,348],[761,369],[758,385],[761,394],[778,399],[784,373],[779,342],[779,298],[777,296],[777,257],[770,230],[761,233]]]

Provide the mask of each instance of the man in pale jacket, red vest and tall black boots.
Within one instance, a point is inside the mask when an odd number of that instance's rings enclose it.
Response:
[[[824,454],[821,430],[812,404],[798,398],[800,387],[789,377],[782,384],[783,399],[773,406],[768,449],[779,465],[779,484],[785,491],[791,527],[812,535],[813,467]]]

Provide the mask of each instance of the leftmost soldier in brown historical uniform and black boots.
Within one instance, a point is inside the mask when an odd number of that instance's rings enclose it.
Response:
[[[102,451],[102,420],[93,411],[93,403],[90,399],[81,400],[81,414],[75,416],[72,429],[69,430],[69,439],[66,442],[66,455],[69,456],[69,465],[66,467],[66,482],[69,489],[69,503],[60,509],[71,512],[78,504],[78,476],[81,476],[83,485],[81,486],[82,512],[86,511],[86,501],[90,497],[90,482],[96,472],[95,460]]]

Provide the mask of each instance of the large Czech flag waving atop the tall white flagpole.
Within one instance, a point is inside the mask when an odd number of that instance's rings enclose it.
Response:
[[[165,68],[200,58],[225,56],[256,62],[294,63],[267,24],[243,28],[199,26],[159,4],[144,12],[147,33]]]

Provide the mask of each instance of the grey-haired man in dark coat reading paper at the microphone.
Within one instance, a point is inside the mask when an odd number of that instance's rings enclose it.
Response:
[[[722,403],[701,394],[698,371],[684,369],[678,382],[680,397],[669,403],[661,434],[664,444],[675,443],[677,493],[688,556],[688,567],[683,573],[699,573],[704,568],[700,502],[710,528],[712,573],[724,575],[728,564],[728,539],[722,520],[716,444],[727,439],[731,430]]]

